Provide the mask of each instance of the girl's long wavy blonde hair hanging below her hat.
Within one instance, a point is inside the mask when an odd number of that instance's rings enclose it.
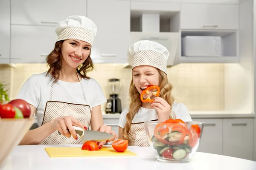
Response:
[[[160,74],[160,96],[166,100],[166,102],[171,106],[170,110],[170,119],[175,119],[175,114],[172,113],[172,103],[174,102],[174,97],[172,96],[172,85],[168,81],[167,75],[157,68],[158,73]],[[129,88],[129,96],[130,96],[130,105],[129,105],[129,112],[126,115],[126,123],[125,127],[122,131],[123,139],[128,140],[129,142],[129,133],[131,130],[131,122],[134,118],[135,114],[138,113],[141,107],[141,100],[140,100],[140,93],[137,91],[133,77],[131,79],[130,88]]]

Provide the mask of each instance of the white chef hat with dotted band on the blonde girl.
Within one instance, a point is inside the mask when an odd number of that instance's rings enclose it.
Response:
[[[129,48],[131,67],[150,65],[167,74],[169,51],[163,45],[149,40],[135,42]]]

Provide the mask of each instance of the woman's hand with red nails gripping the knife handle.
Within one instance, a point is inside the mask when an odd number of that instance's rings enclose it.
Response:
[[[63,136],[67,136],[68,138],[70,138],[71,135],[74,139],[78,138],[73,126],[78,126],[87,130],[87,127],[73,116],[57,117],[52,120],[51,124],[54,130],[58,130]]]

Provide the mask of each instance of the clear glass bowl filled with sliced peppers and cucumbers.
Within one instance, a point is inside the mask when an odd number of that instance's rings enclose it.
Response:
[[[158,161],[189,162],[198,149],[203,122],[183,122],[180,119],[145,122],[150,147]]]

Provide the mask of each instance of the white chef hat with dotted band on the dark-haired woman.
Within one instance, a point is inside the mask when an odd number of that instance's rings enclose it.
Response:
[[[70,16],[66,20],[58,23],[55,29],[58,38],[56,40],[77,39],[93,44],[94,37],[97,33],[97,27],[87,17],[84,16]]]

